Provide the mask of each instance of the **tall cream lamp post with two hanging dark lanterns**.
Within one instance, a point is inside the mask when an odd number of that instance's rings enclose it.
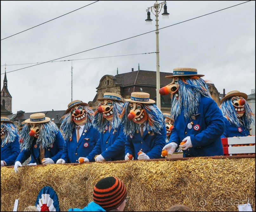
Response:
[[[158,30],[158,14],[161,12],[164,5],[164,12],[162,13],[163,18],[169,18],[169,13],[167,13],[166,1],[158,3],[157,1],[154,3],[154,6],[148,7],[147,11],[147,19],[146,24],[152,24],[152,19],[150,18],[150,11],[155,15],[155,35],[156,35],[156,106],[161,110],[161,100],[160,100],[160,70],[159,70],[159,30]]]

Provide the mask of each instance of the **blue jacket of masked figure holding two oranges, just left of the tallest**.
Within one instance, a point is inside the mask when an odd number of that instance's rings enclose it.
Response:
[[[161,134],[160,134],[161,133]],[[162,149],[166,145],[166,128],[165,126],[160,130],[160,133],[154,134],[146,129],[141,137],[140,132],[135,133],[134,136],[126,136],[125,141],[125,155],[132,154],[134,159],[138,158],[137,153],[141,150],[150,159],[163,158],[161,157]]]

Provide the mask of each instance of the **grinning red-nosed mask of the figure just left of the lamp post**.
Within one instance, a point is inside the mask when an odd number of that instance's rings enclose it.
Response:
[[[145,112],[145,109],[143,108],[141,103],[136,102],[130,102],[130,113],[128,114],[128,119],[133,120],[133,122],[137,124],[144,123],[147,118],[147,113]]]

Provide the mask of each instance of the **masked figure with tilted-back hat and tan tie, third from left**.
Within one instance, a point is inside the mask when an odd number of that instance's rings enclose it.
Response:
[[[93,150],[99,139],[99,132],[92,124],[93,114],[85,102],[74,100],[69,103],[60,126],[66,144],[57,164],[78,163],[79,157],[85,157]]]

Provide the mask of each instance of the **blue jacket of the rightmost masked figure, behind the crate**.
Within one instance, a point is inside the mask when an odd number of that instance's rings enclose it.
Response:
[[[250,135],[250,132],[248,129],[246,129],[244,126],[240,125],[237,127],[236,125],[230,123],[226,118],[225,120],[225,131],[222,134],[221,138],[232,138],[232,137],[244,137]]]

